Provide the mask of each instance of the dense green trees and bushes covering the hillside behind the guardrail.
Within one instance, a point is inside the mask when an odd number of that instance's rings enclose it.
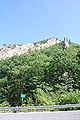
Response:
[[[0,60],[0,106],[80,103],[80,45]]]

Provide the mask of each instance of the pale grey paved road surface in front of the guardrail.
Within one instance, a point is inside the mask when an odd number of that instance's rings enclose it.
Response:
[[[80,120],[80,111],[0,113],[0,120]]]

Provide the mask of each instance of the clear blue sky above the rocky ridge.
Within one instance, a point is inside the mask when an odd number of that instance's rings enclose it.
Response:
[[[0,46],[50,37],[80,43],[80,0],[0,0]]]

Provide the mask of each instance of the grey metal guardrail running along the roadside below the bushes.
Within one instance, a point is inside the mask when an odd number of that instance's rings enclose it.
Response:
[[[27,107],[4,107],[0,108],[0,111],[21,111],[21,110],[28,110],[31,111],[32,109],[58,109],[58,108],[77,108],[80,107],[80,104],[66,104],[66,105],[52,105],[52,106],[27,106]]]

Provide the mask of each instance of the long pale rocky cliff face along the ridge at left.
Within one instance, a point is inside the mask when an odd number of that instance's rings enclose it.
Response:
[[[44,48],[48,48],[52,45],[59,43],[60,41],[56,38],[50,38],[46,43],[28,43],[25,45],[9,45],[4,46],[0,49],[0,59],[5,59],[7,57],[12,57],[21,54],[29,54],[35,50],[40,50]]]

